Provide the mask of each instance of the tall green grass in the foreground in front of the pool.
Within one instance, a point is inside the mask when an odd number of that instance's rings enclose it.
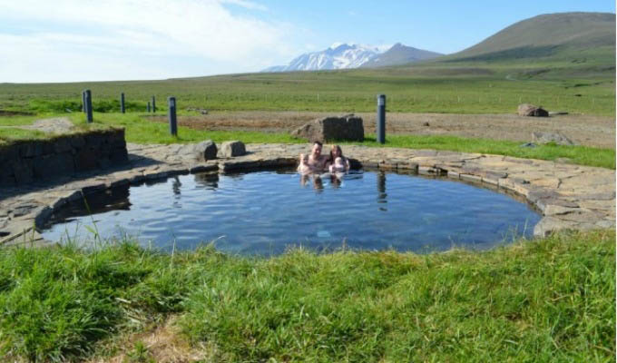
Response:
[[[564,232],[485,252],[271,259],[126,241],[2,249],[0,354],[100,355],[122,331],[174,315],[211,361],[610,362],[614,240]],[[150,359],[135,344],[130,355]]]

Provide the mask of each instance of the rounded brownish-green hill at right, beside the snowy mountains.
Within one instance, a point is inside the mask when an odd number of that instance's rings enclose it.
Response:
[[[591,51],[591,52],[590,52]],[[571,58],[584,62],[588,55],[615,52],[615,15],[560,13],[538,15],[510,25],[441,61],[512,61],[520,58]]]

